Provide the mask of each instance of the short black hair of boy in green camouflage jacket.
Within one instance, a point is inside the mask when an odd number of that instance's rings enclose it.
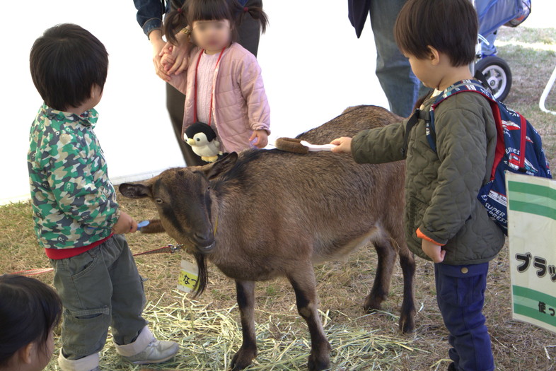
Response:
[[[33,83],[54,110],[79,107],[91,98],[91,89],[103,90],[108,52],[103,43],[79,25],[49,28],[35,40],[29,57]]]

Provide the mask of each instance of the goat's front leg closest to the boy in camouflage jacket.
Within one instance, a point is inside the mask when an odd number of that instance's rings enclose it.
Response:
[[[253,362],[257,356],[257,342],[255,340],[255,282],[236,281],[238,307],[241,315],[241,332],[243,343],[241,348],[233,356],[231,369],[233,371],[243,370]]]

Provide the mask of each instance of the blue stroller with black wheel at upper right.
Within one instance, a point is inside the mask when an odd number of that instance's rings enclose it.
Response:
[[[504,59],[495,55],[494,39],[501,25],[516,27],[531,13],[531,0],[475,0],[479,17],[480,44],[490,46],[493,54],[485,54],[477,48],[475,71],[485,76],[492,95],[504,100],[511,88],[511,70]]]

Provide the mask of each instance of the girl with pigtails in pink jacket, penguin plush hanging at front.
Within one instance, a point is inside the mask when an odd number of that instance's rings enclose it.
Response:
[[[165,19],[164,33],[170,42],[183,33],[191,44],[183,60],[187,68],[171,75],[169,82],[185,94],[183,139],[204,161],[268,143],[270,108],[260,66],[235,42],[238,25],[247,15],[265,31],[262,8],[244,7],[236,0],[187,0]],[[174,66],[172,47],[163,53],[161,64]],[[211,144],[213,153],[197,151]]]

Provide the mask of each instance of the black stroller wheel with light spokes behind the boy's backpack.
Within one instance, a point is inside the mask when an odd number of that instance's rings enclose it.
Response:
[[[511,71],[504,59],[491,55],[475,64],[475,70],[481,71],[487,79],[492,95],[497,100],[504,100],[511,88]]]

